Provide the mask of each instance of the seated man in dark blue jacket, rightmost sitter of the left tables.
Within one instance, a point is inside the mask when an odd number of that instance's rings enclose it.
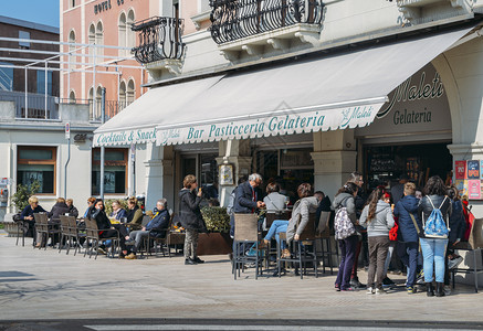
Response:
[[[140,244],[144,238],[147,238],[149,233],[154,237],[162,238],[166,235],[167,227],[169,225],[169,213],[167,211],[167,201],[166,199],[160,199],[156,203],[157,212],[155,217],[153,217],[149,223],[144,226],[141,229],[133,231],[129,234],[129,238],[135,239],[135,245],[133,248],[133,253],[126,256],[127,259],[135,259],[136,253],[139,249]]]

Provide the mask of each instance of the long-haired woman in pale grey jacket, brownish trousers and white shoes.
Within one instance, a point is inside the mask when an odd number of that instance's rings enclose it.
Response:
[[[385,190],[377,188],[369,196],[363,210],[359,224],[367,228],[369,241],[369,270],[367,275],[367,293],[382,295],[385,264],[389,249],[389,229],[395,226],[391,205],[382,200]],[[376,282],[374,277],[377,271]]]

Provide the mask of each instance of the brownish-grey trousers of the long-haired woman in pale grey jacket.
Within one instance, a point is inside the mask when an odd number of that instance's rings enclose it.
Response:
[[[369,270],[367,273],[367,287],[382,288],[382,279],[386,277],[384,266],[388,255],[388,236],[369,237]],[[376,284],[374,282],[375,276]]]

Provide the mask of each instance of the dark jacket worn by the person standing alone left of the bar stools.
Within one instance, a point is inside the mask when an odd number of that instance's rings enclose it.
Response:
[[[204,231],[204,222],[200,211],[201,197],[195,191],[182,189],[179,191],[179,216],[182,227],[187,229]]]

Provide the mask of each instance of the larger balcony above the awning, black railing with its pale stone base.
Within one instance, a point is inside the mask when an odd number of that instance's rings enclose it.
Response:
[[[294,39],[315,43],[322,29],[322,0],[210,0],[211,38],[227,57],[271,45],[287,49]],[[232,58],[233,60],[233,58]]]

